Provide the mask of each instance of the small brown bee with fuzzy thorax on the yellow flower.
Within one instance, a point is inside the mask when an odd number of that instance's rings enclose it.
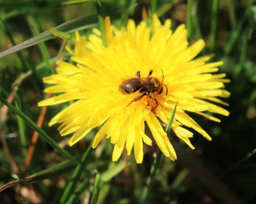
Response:
[[[161,70],[162,71],[162,70]],[[132,101],[127,105],[131,105],[131,103],[135,101],[139,101],[144,96],[148,96],[151,98],[151,101],[148,103],[150,105],[152,102],[155,102],[155,105],[152,105],[152,112],[156,110],[158,106],[158,101],[155,98],[156,94],[161,94],[163,92],[163,87],[166,87],[166,95],[168,94],[168,87],[163,84],[164,80],[164,74],[162,81],[160,82],[156,77],[150,77],[153,73],[153,70],[150,69],[148,76],[145,78],[142,78],[140,76],[140,71],[136,72],[136,78],[129,78],[127,80],[124,80],[122,84],[119,85],[119,91],[123,94],[132,94],[134,92],[140,92],[140,96],[137,96],[136,98],[132,99]]]

